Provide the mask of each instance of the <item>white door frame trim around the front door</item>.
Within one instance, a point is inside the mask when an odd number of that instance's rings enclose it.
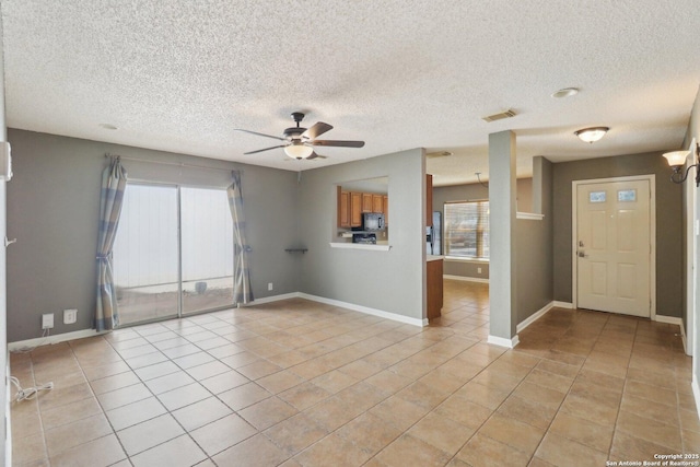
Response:
[[[651,197],[649,202],[649,229],[651,242],[650,254],[650,277],[649,277],[649,294],[650,294],[650,313],[651,320],[656,320],[656,175],[631,175],[626,177],[609,177],[609,178],[592,178],[585,180],[571,182],[571,304],[573,308],[578,308],[579,301],[579,272],[578,272],[578,258],[576,258],[576,229],[579,218],[579,202],[578,190],[580,185],[591,184],[605,184],[611,182],[649,182],[649,195]]]

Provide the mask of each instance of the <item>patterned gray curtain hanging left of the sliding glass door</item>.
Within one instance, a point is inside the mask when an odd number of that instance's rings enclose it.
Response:
[[[127,171],[119,157],[102,174],[100,195],[100,232],[97,238],[97,307],[95,310],[95,329],[115,329],[119,326],[117,296],[112,275],[112,247],[117,234],[124,190],[127,186]]]

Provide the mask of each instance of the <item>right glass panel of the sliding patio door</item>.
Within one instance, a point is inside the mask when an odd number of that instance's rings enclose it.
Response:
[[[180,188],[183,314],[233,306],[233,221],[223,189]]]

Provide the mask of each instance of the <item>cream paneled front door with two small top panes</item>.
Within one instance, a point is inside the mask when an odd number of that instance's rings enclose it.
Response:
[[[651,315],[650,180],[576,187],[576,306]]]

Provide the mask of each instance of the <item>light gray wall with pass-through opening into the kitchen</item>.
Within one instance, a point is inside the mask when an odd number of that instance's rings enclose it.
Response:
[[[422,150],[410,150],[302,174],[300,291],[384,312],[422,318],[425,314],[424,209]],[[392,235],[388,252],[331,248],[336,225],[336,185],[389,177]]]

